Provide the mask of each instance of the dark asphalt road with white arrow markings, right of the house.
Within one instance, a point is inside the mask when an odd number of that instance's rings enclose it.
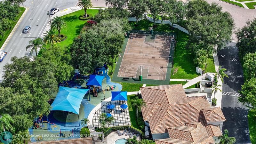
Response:
[[[243,69],[238,58],[236,43],[231,42],[226,49],[218,51],[220,66],[227,69],[229,78],[224,78],[223,92],[238,92],[244,84]],[[222,95],[222,112],[226,117],[222,131],[227,129],[230,137],[236,138],[237,144],[251,143],[247,114],[248,108],[238,103],[237,96]]]

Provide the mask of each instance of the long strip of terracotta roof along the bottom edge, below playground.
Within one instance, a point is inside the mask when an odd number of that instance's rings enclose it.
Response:
[[[92,144],[92,138],[29,142],[28,144]]]

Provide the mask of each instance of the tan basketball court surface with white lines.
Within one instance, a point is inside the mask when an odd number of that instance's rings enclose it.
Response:
[[[130,33],[119,77],[165,80],[173,36]]]

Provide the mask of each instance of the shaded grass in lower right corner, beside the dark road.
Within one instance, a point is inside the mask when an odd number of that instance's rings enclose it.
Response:
[[[256,111],[250,110],[248,113],[248,125],[250,140],[252,143],[256,143]]]

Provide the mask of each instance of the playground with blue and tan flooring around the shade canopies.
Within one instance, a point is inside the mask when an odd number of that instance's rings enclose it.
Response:
[[[67,111],[57,110],[58,108],[54,107],[54,100],[57,100],[59,93],[56,92],[50,101],[51,113],[48,116],[36,117],[33,126],[28,129],[31,134],[31,142],[80,138],[81,120],[84,117],[87,118],[92,109],[101,101],[111,97],[111,92],[122,90],[121,84],[110,82],[110,77],[107,75],[108,68],[102,69],[104,68],[95,69],[93,73],[100,74],[99,76],[102,77],[101,86],[88,86],[90,77],[82,76],[79,73],[71,80],[60,84],[59,92],[61,88],[75,88],[77,91],[87,90],[88,92],[83,95],[77,112],[70,112],[72,108],[68,108],[66,105]],[[63,108],[63,106],[60,105],[59,108]]]

